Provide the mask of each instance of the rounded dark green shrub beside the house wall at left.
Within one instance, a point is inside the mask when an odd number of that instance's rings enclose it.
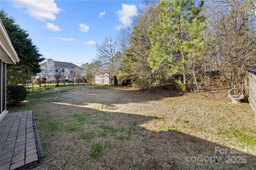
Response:
[[[24,101],[27,96],[27,90],[23,86],[6,86],[6,103],[7,104],[19,104]]]

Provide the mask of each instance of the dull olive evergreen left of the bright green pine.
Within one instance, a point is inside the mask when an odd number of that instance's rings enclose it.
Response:
[[[130,33],[130,45],[125,50],[118,77],[131,80],[135,87],[151,87],[158,85],[158,73],[152,73],[148,63],[147,50],[150,49],[148,31],[156,22],[157,11],[153,6],[148,6],[138,14],[134,21],[134,28]]]

